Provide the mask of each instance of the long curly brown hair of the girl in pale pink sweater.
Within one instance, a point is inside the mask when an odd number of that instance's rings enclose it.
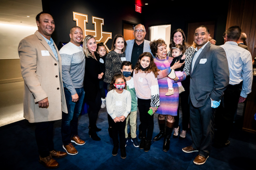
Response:
[[[157,78],[159,69],[157,69],[157,67],[154,63],[153,56],[150,54],[150,52],[143,52],[142,54],[139,55],[138,61],[137,61],[136,66],[134,68],[135,73],[138,73],[138,71],[140,70],[140,67],[139,67],[140,60],[143,57],[149,57],[150,58],[150,63],[149,63],[149,66],[145,69],[145,73],[150,73],[152,71],[153,74],[154,74],[154,77]]]

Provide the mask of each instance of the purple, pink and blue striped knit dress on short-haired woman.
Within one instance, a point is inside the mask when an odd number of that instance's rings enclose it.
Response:
[[[178,85],[177,83],[173,84],[173,91],[174,94],[171,96],[165,96],[165,93],[168,91],[168,84],[167,84],[167,75],[170,73],[170,63],[172,61],[171,57],[166,57],[166,59],[159,59],[154,58],[154,63],[156,67],[160,71],[157,77],[158,79],[158,86],[159,86],[159,96],[160,96],[160,106],[157,109],[157,114],[161,115],[171,115],[177,116],[177,108],[178,108]],[[185,79],[186,75],[183,72],[183,76],[179,77],[179,82]]]

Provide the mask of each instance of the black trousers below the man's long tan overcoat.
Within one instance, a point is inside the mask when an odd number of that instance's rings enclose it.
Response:
[[[54,150],[53,124],[54,121],[35,123],[35,140],[41,158],[48,157],[49,151]]]

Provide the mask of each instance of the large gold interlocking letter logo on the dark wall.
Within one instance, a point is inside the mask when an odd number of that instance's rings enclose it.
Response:
[[[94,30],[86,29],[86,23],[88,23],[88,15],[78,12],[73,12],[73,20],[76,22],[76,26],[82,28],[84,35],[93,35],[96,42],[103,42],[106,44],[108,39],[112,39],[112,32],[105,32],[102,30],[102,25],[104,25],[104,19],[92,16],[92,24],[94,24]],[[106,45],[105,45],[106,46]],[[107,52],[109,49],[106,46]]]

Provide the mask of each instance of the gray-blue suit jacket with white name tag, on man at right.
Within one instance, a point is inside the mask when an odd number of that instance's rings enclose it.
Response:
[[[200,64],[201,59],[206,59],[206,62]],[[211,43],[206,44],[195,61],[192,73],[190,65],[189,73],[190,100],[194,107],[204,106],[210,98],[219,101],[229,82],[224,49]]]

